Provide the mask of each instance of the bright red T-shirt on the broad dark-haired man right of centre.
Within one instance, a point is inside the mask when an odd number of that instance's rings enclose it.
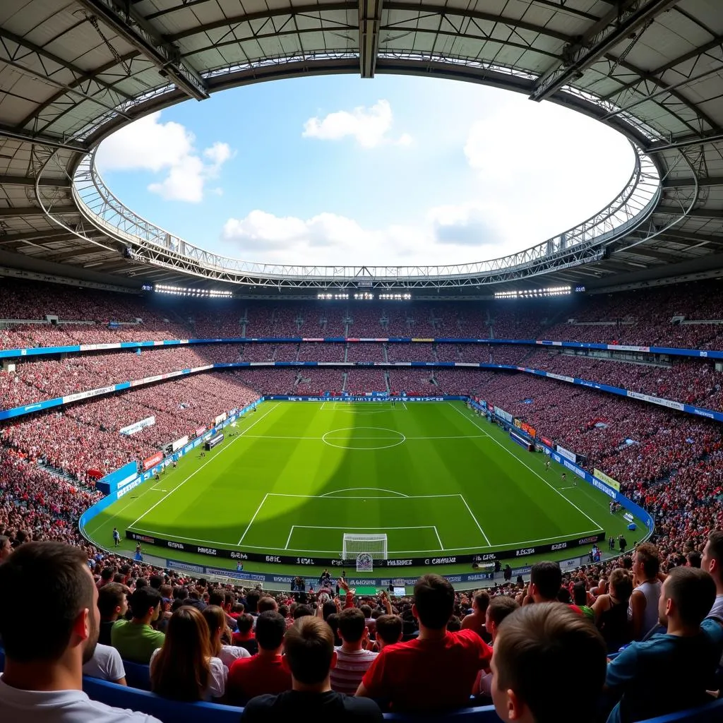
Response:
[[[447,633],[439,640],[414,639],[385,647],[361,681],[370,698],[393,710],[428,711],[469,703],[492,648],[474,630]]]

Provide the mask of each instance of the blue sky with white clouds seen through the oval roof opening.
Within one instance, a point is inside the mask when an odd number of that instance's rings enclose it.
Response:
[[[127,205],[252,261],[446,264],[527,248],[592,215],[628,141],[551,103],[415,77],[309,77],[141,119],[98,165]]]

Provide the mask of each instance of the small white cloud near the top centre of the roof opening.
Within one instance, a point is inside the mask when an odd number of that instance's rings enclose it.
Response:
[[[397,139],[389,137],[394,117],[388,100],[377,102],[365,108],[357,106],[351,113],[349,111],[336,111],[322,119],[316,116],[304,123],[304,138],[320,138],[321,140],[340,140],[351,136],[361,147],[374,148],[378,145],[393,143],[396,145],[409,145],[411,135],[401,134]]]

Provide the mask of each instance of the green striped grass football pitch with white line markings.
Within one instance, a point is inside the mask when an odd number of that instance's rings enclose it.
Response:
[[[339,557],[344,532],[384,532],[389,557],[424,557],[534,547],[602,530],[617,536],[626,527],[620,513],[610,515],[606,495],[574,485],[570,472],[563,482],[560,466],[547,471],[547,457],[515,445],[461,402],[268,401],[226,435],[205,457],[194,450],[161,480],[122,497],[85,534],[106,548],[117,526],[121,536],[130,529],[216,548]],[[133,544],[124,539],[123,546],[129,552]],[[236,564],[160,547],[145,552]]]

